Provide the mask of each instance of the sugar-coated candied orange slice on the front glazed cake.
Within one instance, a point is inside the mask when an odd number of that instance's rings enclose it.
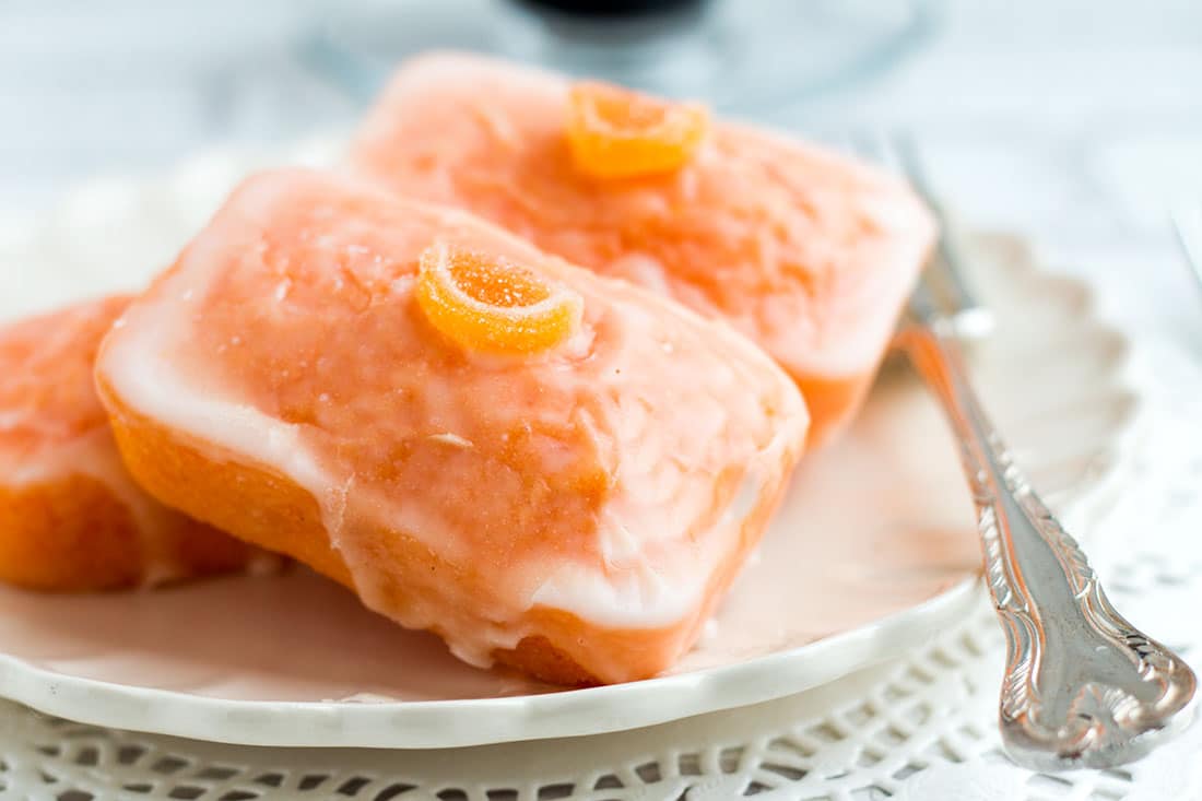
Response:
[[[459,345],[499,354],[554,348],[576,331],[583,305],[529,267],[445,243],[422,251],[417,303]]]

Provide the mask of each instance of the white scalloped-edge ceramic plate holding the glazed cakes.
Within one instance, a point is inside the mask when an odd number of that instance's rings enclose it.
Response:
[[[337,143],[293,152],[322,161]],[[0,318],[139,286],[261,160],[90,184],[36,225],[0,221]],[[1007,237],[971,243],[1001,320],[982,394],[1070,520],[1100,499],[1133,419],[1124,342],[1077,283]],[[779,698],[899,654],[980,595],[951,438],[909,373],[803,465],[713,630],[670,675],[557,690],[453,659],[296,569],[147,593],[0,588],[0,694],[101,725],[246,744],[454,747],[617,731]]]

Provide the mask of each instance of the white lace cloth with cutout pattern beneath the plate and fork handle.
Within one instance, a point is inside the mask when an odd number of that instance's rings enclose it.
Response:
[[[1142,343],[1137,441],[1090,551],[1136,625],[1202,654],[1202,368]],[[1000,630],[980,612],[899,661],[792,698],[599,737],[424,752],[243,748],[0,702],[11,799],[1170,801],[1202,799],[1202,724],[1123,770],[1035,775],[1001,753]]]

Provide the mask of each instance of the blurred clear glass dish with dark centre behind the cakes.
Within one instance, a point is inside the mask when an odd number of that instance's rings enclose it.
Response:
[[[490,53],[746,117],[892,67],[939,0],[393,0],[332,8],[303,43],[363,103],[430,48]]]

